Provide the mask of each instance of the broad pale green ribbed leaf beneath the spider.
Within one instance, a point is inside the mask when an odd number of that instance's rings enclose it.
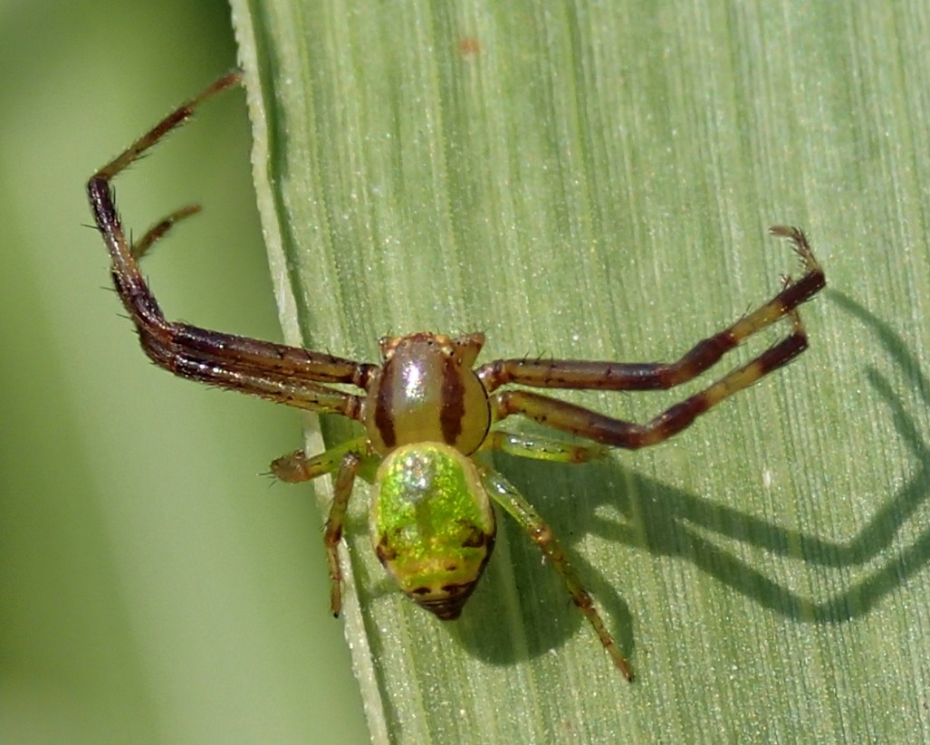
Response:
[[[485,360],[671,359],[798,271],[772,224],[808,231],[832,287],[804,307],[811,352],[673,441],[498,459],[634,685],[505,519],[461,619],[409,603],[360,491],[345,616],[373,738],[930,737],[926,9],[233,8],[292,342],[373,360],[389,332],[482,330]],[[697,387],[565,397],[644,420]]]

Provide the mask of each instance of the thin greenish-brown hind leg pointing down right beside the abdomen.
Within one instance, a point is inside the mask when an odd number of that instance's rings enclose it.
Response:
[[[575,574],[575,570],[568,564],[565,550],[555,539],[551,527],[539,516],[538,512],[533,509],[533,506],[526,501],[524,496],[502,475],[490,469],[482,469],[481,472],[485,481],[485,488],[491,499],[494,499],[505,512],[516,520],[517,524],[526,531],[526,535],[536,543],[543,555],[549,559],[555,571],[559,573],[565,582],[565,588],[571,595],[572,602],[578,605],[578,609],[588,619],[591,628],[601,640],[601,644],[604,645],[604,649],[614,660],[614,664],[617,665],[623,677],[631,681],[633,672],[630,663],[620,652],[617,641],[607,631],[604,619],[601,618],[601,614],[597,612],[597,608],[594,606],[591,593],[585,589],[581,579]]]

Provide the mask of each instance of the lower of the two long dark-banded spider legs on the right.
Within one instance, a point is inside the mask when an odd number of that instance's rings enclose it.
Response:
[[[790,336],[769,347],[748,364],[697,392],[680,404],[659,414],[646,424],[611,419],[582,406],[575,406],[549,396],[528,391],[502,391],[491,396],[495,419],[522,414],[540,424],[571,432],[595,442],[631,450],[656,445],[681,432],[697,417],[724,398],[742,391],[778,367],[787,365],[807,348],[807,335],[795,311],[788,313],[793,330]]]

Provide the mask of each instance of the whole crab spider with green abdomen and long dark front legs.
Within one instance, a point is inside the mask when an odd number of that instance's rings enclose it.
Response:
[[[681,432],[728,396],[787,365],[807,348],[798,307],[825,286],[824,273],[804,233],[777,226],[804,265],[785,277],[774,298],[732,326],[703,339],[671,363],[498,359],[474,367],[485,343],[481,333],[449,337],[419,332],[380,339],[379,365],[270,341],[209,331],[168,321],[142,277],[139,259],[179,220],[199,211],[171,213],[135,243],[126,239],[111,182],[205,100],[241,82],[234,71],[169,113],[87,182],[97,228],[112,259],[113,284],[157,366],[182,378],[260,396],[286,406],[354,419],[365,434],[307,457],[300,450],[272,462],[283,481],[298,483],[336,474],[324,543],[331,579],[330,605],[341,607],[342,538],[352,485],[362,477],[376,486],[370,509],[371,539],[379,560],[400,588],[439,619],[456,619],[480,579],[496,535],[496,502],[521,525],[565,581],[619,672],[632,680],[630,663],[549,525],[498,472],[475,456],[486,450],[563,462],[604,455],[605,446],[637,449]],[[744,366],[684,399],[645,424],[613,419],[538,392],[513,389],[648,391],[669,389],[714,366],[741,341],[781,319],[790,333]],[[349,384],[363,393],[332,384]],[[568,444],[498,429],[521,415],[549,428],[592,441]]]

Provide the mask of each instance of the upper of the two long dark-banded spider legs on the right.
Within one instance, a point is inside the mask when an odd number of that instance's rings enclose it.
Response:
[[[804,263],[804,275],[782,288],[773,299],[737,323],[709,339],[703,339],[681,359],[671,363],[619,363],[586,360],[496,360],[478,368],[478,377],[491,392],[507,383],[534,388],[596,389],[599,391],[649,391],[673,388],[694,379],[766,326],[783,318],[825,286],[823,269],[814,258],[804,233],[798,228],[777,226],[770,233],[788,238]]]

